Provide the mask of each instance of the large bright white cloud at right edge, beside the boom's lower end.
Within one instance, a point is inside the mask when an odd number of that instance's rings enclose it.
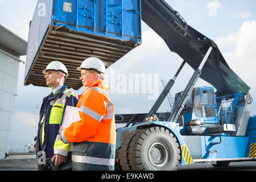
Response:
[[[226,37],[218,38],[216,43],[220,49],[232,46],[232,51],[222,51],[222,55],[230,68],[248,85],[254,98],[253,106],[256,106],[256,21],[251,20],[242,23],[236,34],[230,32]],[[252,107],[252,106],[251,106]],[[251,110],[251,114],[256,111]]]

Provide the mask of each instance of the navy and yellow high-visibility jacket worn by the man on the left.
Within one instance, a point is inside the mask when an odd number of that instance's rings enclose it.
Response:
[[[77,102],[76,94],[67,89],[67,86],[62,86],[55,94],[50,94],[43,98],[38,124],[38,136],[36,137],[37,155],[39,149],[46,152],[46,158],[52,158],[53,154],[68,155],[70,144],[65,144],[61,141],[59,129],[66,106],[76,106]],[[45,117],[42,125],[43,115]],[[42,130],[41,127],[43,127]],[[42,141],[40,141],[39,136],[42,136],[40,137]],[[43,144],[42,148],[39,142]]]

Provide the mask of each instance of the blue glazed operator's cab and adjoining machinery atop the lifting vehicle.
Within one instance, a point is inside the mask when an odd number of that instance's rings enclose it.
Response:
[[[175,94],[174,106],[183,92]],[[222,133],[235,136],[245,126],[242,135],[245,134],[249,115],[243,110],[245,106],[245,94],[238,92],[228,96],[216,97],[214,88],[203,86],[194,88],[181,110],[179,123],[181,135],[210,135]],[[242,121],[241,115],[243,116]],[[225,126],[225,127],[224,127]]]

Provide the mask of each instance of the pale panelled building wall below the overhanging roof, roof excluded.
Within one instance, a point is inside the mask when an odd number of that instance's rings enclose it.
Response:
[[[9,151],[9,131],[14,113],[19,62],[0,52],[0,159]]]

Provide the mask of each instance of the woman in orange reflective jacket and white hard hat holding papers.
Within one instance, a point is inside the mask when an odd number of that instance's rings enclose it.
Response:
[[[83,86],[88,87],[76,107],[81,120],[60,130],[61,140],[71,143],[73,170],[114,170],[115,120],[113,102],[108,96],[105,65],[96,57],[84,60]]]

